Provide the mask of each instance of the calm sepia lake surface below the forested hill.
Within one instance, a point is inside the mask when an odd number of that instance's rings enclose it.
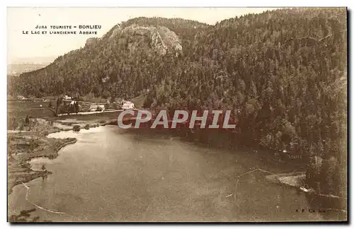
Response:
[[[62,131],[50,137],[78,141],[55,160],[37,158],[52,171],[28,182],[28,199],[50,221],[323,221],[338,212],[319,199],[265,179],[278,172],[261,157],[207,148],[166,136],[124,134],[117,127]],[[275,171],[277,170],[277,171]],[[286,170],[284,170],[286,172]],[[239,178],[238,178],[239,177]],[[236,182],[239,179],[238,182]],[[8,197],[9,214],[33,209],[18,185]],[[322,203],[323,201],[320,200]],[[304,210],[303,210],[304,209]]]

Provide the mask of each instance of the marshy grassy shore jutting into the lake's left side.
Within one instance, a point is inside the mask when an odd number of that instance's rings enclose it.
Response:
[[[85,115],[86,116],[86,115]],[[81,117],[81,115],[79,115]],[[48,138],[48,134],[59,131],[71,131],[75,126],[79,129],[91,129],[105,126],[107,117],[97,117],[95,114],[86,116],[86,120],[57,118],[49,121],[46,119],[30,119],[30,127],[23,130],[8,130],[8,194],[18,184],[30,182],[39,177],[50,175],[50,171],[33,170],[30,160],[34,158],[54,159],[58,151],[72,143],[76,139]]]

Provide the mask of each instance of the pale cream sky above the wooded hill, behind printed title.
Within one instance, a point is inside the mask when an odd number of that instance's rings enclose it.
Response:
[[[275,8],[32,8],[7,9],[8,64],[31,57],[57,57],[85,45],[89,37],[102,37],[114,25],[130,18],[164,17],[198,20],[210,25],[247,13]],[[24,35],[36,25],[101,25],[98,35]]]

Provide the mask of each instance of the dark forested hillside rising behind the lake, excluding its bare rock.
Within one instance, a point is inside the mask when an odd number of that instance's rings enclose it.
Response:
[[[233,110],[239,142],[301,153],[309,187],[346,196],[346,13],[281,9],[216,25],[133,18],[44,69],[11,77],[8,90],[37,97],[146,94],[151,109]],[[147,36],[113,36],[133,24],[169,28],[183,50],[159,55]]]

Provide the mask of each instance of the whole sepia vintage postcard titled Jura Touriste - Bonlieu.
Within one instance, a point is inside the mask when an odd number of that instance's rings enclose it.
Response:
[[[348,221],[347,8],[7,8],[8,222]]]

